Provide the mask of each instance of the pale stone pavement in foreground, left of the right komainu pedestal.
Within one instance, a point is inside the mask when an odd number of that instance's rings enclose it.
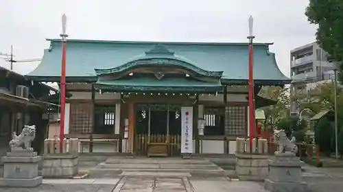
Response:
[[[36,188],[5,188],[1,192],[261,192],[255,182],[229,181],[226,178],[189,180],[186,177],[123,177],[117,179],[45,179]]]

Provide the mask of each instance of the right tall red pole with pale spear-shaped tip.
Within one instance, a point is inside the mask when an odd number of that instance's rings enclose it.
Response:
[[[253,81],[253,54],[252,54],[252,40],[255,36],[252,36],[253,18],[250,16],[249,23],[249,59],[248,59],[248,94],[249,94],[249,140],[250,140],[250,152],[252,151],[252,138],[255,135],[255,106],[254,106],[254,81]]]

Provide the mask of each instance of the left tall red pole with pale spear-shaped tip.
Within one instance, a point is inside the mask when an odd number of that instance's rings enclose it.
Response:
[[[65,33],[67,23],[67,16],[63,14],[62,16],[62,34],[60,37],[62,38],[62,64],[61,64],[61,79],[60,79],[60,149],[63,148],[63,139],[64,139],[64,113],[65,113],[65,61],[66,61],[66,41],[67,41],[67,34]]]

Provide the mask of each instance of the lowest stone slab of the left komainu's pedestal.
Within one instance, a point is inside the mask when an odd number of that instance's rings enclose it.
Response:
[[[0,178],[1,187],[38,187],[42,182],[41,176],[29,179]]]

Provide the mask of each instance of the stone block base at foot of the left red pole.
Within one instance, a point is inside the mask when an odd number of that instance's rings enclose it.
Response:
[[[77,154],[45,154],[43,161],[44,178],[73,178],[78,174]]]

